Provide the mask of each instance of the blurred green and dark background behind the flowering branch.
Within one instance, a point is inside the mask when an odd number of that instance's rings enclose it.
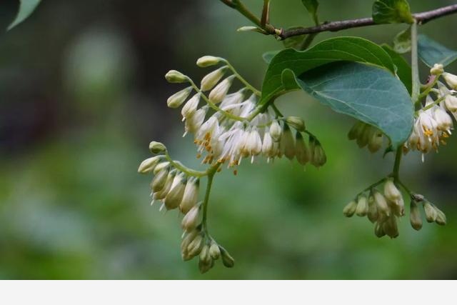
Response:
[[[1,1],[5,29],[19,1]],[[273,0],[276,26],[311,25],[298,0]],[[411,0],[413,11],[453,1]],[[372,1],[322,0],[321,20],[369,16]],[[260,0],[246,0],[260,11]],[[439,154],[409,154],[401,174],[446,212],[448,225],[419,232],[401,219],[398,239],[376,238],[366,219],[341,210],[391,171],[392,156],[371,155],[346,139],[353,120],[304,93],[283,96],[285,114],[306,119],[328,164],[245,162],[216,176],[209,208],[213,236],[236,259],[199,274],[181,261],[180,216],[149,206],[150,176],[136,173],[151,140],[198,166],[179,111],[166,99],[180,87],[164,74],[199,80],[199,56],[229,59],[260,86],[265,51],[281,42],[254,33],[215,0],[43,0],[0,42],[0,279],[457,279],[457,140]],[[351,29],[390,43],[403,25]],[[457,15],[421,26],[457,49]],[[427,75],[423,67],[422,79]],[[457,66],[449,67],[456,73]],[[203,190],[201,190],[203,191]],[[203,196],[203,194],[201,194]]]

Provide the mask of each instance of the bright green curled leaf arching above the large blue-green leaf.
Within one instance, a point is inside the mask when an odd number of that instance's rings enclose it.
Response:
[[[319,42],[306,51],[286,49],[273,57],[262,85],[260,104],[266,104],[286,92],[282,83],[284,69],[291,69],[297,76],[308,70],[333,61],[358,61],[373,64],[395,73],[391,56],[381,46],[359,37],[336,37]],[[298,87],[296,85],[296,87]],[[288,85],[288,88],[291,88]]]

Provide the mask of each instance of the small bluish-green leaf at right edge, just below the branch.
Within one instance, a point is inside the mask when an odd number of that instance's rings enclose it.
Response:
[[[421,61],[430,67],[434,64],[447,66],[457,59],[457,51],[450,50],[425,35],[418,37],[418,54]]]

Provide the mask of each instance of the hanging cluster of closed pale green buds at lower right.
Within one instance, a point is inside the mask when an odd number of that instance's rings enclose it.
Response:
[[[379,184],[384,183],[383,193],[375,187],[368,189],[368,197],[366,191],[356,196],[356,199],[347,204],[343,209],[343,214],[346,217],[351,217],[354,214],[357,216],[366,216],[374,226],[374,233],[378,237],[389,236],[392,239],[398,236],[397,221],[405,215],[405,203],[403,195],[398,190],[393,179],[383,179]],[[418,194],[411,194],[411,206],[409,211],[411,226],[413,229],[419,230],[422,228],[421,212],[418,209],[418,204],[423,204],[423,210],[428,222],[435,221],[437,224],[446,224],[445,214],[436,206]]]

